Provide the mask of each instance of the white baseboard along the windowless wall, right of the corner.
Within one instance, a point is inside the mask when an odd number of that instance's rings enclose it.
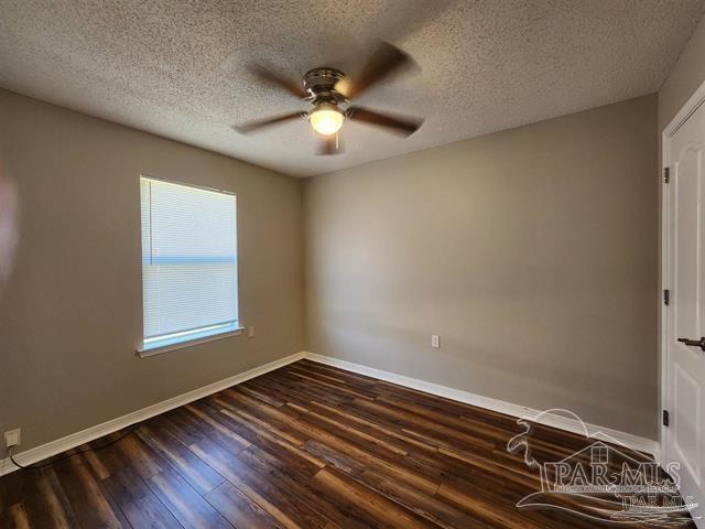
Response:
[[[491,399],[489,397],[482,397],[481,395],[471,393],[469,391],[463,391],[459,389],[448,388],[438,384],[426,382],[416,378],[404,377],[389,371],[382,371],[381,369],[375,369],[372,367],[354,364],[347,360],[340,360],[329,356],[316,355],[314,353],[305,353],[305,357],[310,360],[321,364],[327,364],[329,366],[339,367],[340,369],[347,369],[348,371],[358,373],[360,375],[367,375],[368,377],[379,378],[388,382],[398,384],[406,388],[417,389],[425,391],[426,393],[436,395],[438,397],[445,397],[446,399],[457,400],[466,404],[477,406],[488,410],[505,413],[507,415],[516,418],[527,418],[535,420],[541,424],[547,427],[557,428],[572,433],[584,434],[587,429],[590,436],[595,439],[601,439],[604,441],[612,442],[623,446],[628,446],[632,450],[638,450],[659,457],[659,443],[651,439],[641,438],[631,433],[621,432],[611,428],[597,427],[595,424],[582,423],[578,420],[571,419],[556,414],[542,414],[540,410],[527,408],[525,406],[512,404],[498,399]]]

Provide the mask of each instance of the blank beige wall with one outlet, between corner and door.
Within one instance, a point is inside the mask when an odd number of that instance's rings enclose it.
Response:
[[[308,180],[307,350],[655,439],[657,141],[648,96]]]

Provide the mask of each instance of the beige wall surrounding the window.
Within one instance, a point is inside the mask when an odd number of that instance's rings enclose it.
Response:
[[[300,180],[3,90],[0,150],[21,208],[0,292],[0,432],[21,427],[23,450],[302,350]],[[256,338],[135,357],[140,173],[238,194]]]

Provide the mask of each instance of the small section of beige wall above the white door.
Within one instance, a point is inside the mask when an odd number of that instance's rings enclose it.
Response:
[[[659,131],[669,125],[685,101],[705,82],[705,18],[681,53],[659,91]]]

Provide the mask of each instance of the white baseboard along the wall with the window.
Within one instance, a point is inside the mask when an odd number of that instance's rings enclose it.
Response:
[[[97,424],[95,427],[87,428],[86,430],[82,430],[80,432],[72,433],[70,435],[66,435],[65,438],[61,438],[46,444],[42,444],[34,449],[20,452],[14,456],[14,458],[21,465],[31,465],[53,455],[61,454],[62,452],[65,452],[67,450],[75,449],[76,446],[79,446],[89,441],[94,441],[104,435],[108,435],[109,433],[116,432],[131,424],[144,421],[151,417],[159,415],[160,413],[164,413],[165,411],[173,410],[174,408],[178,408],[180,406],[184,406],[188,402],[193,402],[194,400],[207,397],[208,395],[216,393],[224,390],[225,388],[229,388],[230,386],[245,382],[246,380],[249,380],[251,378],[259,377],[260,375],[264,375],[265,373],[272,371],[274,369],[279,369],[280,367],[283,367],[288,364],[301,360],[304,357],[304,353],[296,353],[285,358],[270,361],[269,364],[265,364],[263,366],[254,367],[245,373],[240,373],[239,375],[235,375],[224,380],[204,386],[203,388],[194,389],[177,397],[173,397],[155,404],[148,406],[147,408],[133,411],[131,413],[128,413],[127,415],[118,417],[117,419],[104,422],[102,424]],[[15,466],[9,457],[0,460],[0,476],[3,476],[17,469],[18,466]]]

